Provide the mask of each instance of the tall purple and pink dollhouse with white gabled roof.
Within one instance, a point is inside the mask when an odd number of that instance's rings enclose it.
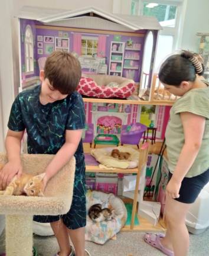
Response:
[[[156,83],[153,84],[157,81],[157,76],[153,79],[152,68],[160,29],[153,17],[113,15],[92,7],[39,16],[22,12],[19,15],[21,89],[40,83],[40,68],[54,50],[71,52],[79,59],[83,73],[122,77],[131,79],[135,84],[135,92],[128,99],[83,97],[86,110],[84,142],[92,145],[94,141],[95,145],[95,138],[102,135],[106,140],[115,138],[114,145],[118,145],[123,127],[128,132],[136,123],[146,126],[152,123],[150,127],[155,128],[156,139],[162,140],[174,101],[171,97],[164,98],[164,92],[159,92],[159,82],[157,91]],[[147,100],[141,100],[138,95],[142,90],[144,49],[149,33],[152,34],[153,45],[146,88],[143,87],[149,91],[149,96]],[[163,97],[154,100],[154,94],[162,94]],[[96,167],[87,168],[87,171],[95,170]],[[120,170],[116,172],[120,173]],[[126,172],[139,174],[139,169]],[[134,205],[136,207],[136,197]]]

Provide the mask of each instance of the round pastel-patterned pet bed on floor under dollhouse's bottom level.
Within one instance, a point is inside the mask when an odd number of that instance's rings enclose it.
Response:
[[[97,203],[102,204],[102,208],[112,207],[114,209],[111,220],[93,222],[87,216],[85,240],[95,242],[96,244],[105,244],[107,240],[112,238],[125,225],[127,219],[125,204],[114,194],[107,194],[100,191],[88,190],[86,199],[87,212],[93,204]]]

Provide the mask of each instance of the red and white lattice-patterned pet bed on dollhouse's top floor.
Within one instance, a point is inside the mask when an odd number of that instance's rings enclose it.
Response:
[[[95,98],[128,98],[135,91],[135,82],[122,76],[83,74],[77,91]]]

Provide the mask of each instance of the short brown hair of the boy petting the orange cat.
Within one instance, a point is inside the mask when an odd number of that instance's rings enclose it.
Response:
[[[44,78],[61,94],[71,94],[81,78],[80,62],[71,53],[57,50],[47,57]]]

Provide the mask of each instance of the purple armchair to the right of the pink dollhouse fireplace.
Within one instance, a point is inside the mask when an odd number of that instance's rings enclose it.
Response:
[[[137,145],[139,148],[139,141],[141,140],[143,133],[146,131],[146,128],[147,127],[141,123],[133,123],[130,126],[122,125],[120,144]]]

